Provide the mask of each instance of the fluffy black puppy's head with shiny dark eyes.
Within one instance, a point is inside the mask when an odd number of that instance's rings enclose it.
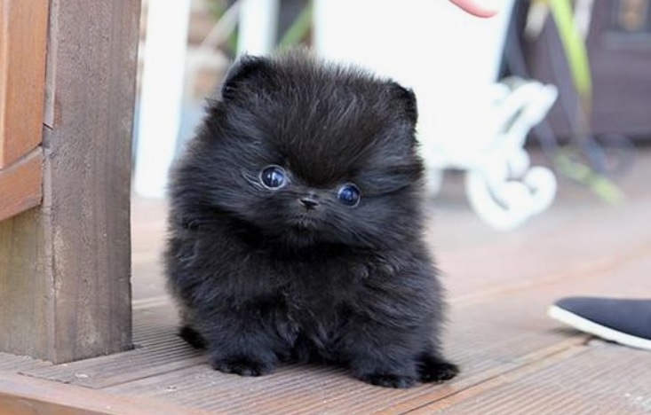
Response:
[[[409,90],[304,55],[243,59],[210,108],[211,204],[284,242],[375,246],[416,226]]]

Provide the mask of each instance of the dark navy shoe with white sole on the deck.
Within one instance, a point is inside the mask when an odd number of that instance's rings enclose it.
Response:
[[[651,300],[568,297],[547,314],[607,341],[651,350]]]

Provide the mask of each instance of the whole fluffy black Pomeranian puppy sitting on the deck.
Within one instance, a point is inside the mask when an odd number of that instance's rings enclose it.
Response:
[[[422,238],[416,99],[305,51],[244,57],[171,172],[180,335],[221,371],[344,364],[374,385],[449,380]]]

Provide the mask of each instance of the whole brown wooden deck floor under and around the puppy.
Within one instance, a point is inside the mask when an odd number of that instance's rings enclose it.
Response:
[[[261,378],[212,371],[174,335],[159,264],[165,208],[134,200],[138,348],[59,365],[0,354],[0,414],[651,413],[651,353],[545,315],[566,295],[651,296],[650,178],[647,150],[621,183],[622,206],[561,182],[550,211],[502,233],[472,214],[460,177],[449,177],[434,200],[429,238],[446,274],[449,356],[463,372],[407,390],[371,387],[322,366],[281,367]]]

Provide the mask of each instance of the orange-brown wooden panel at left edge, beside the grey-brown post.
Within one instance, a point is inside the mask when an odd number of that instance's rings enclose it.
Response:
[[[0,220],[41,200],[48,4],[0,2]]]

